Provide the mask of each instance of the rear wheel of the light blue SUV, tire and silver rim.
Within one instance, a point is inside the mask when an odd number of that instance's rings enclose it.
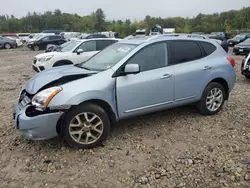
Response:
[[[217,97],[218,100],[216,100],[217,98],[211,99],[211,95],[212,95],[211,92],[212,91],[215,91],[216,93],[220,91],[221,97]],[[208,115],[208,116],[215,115],[222,109],[223,104],[225,102],[225,96],[226,96],[225,88],[220,83],[211,82],[207,85],[207,87],[203,91],[201,100],[197,103],[197,109],[204,115]],[[210,105],[207,104],[207,102],[209,102],[209,100],[212,103]],[[214,110],[212,110],[211,108],[213,107],[213,104],[216,104],[216,103],[217,103],[217,106],[215,106],[215,107],[217,107],[217,108],[214,108]],[[210,107],[210,109],[209,109],[209,107]]]

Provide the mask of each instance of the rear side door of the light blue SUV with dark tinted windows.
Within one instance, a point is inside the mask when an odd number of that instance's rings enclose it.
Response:
[[[206,52],[200,46],[206,48]],[[173,68],[175,72],[175,105],[182,105],[200,98],[204,87],[209,83],[213,69],[211,54],[216,47],[208,42],[172,40]],[[207,56],[207,57],[206,57]]]

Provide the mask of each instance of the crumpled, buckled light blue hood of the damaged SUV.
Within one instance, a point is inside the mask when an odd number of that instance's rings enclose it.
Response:
[[[95,73],[97,73],[97,71],[89,71],[78,68],[74,65],[55,67],[37,73],[25,84],[23,89],[25,89],[29,94],[33,95],[36,94],[42,87],[54,81],[60,81],[60,79],[64,79],[64,83],[67,83],[76,80],[77,78],[84,78]]]

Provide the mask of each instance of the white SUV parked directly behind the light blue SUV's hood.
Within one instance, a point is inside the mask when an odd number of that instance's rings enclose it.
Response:
[[[86,61],[100,50],[118,42],[115,38],[93,38],[72,40],[60,52],[47,52],[34,57],[32,67],[36,72]]]

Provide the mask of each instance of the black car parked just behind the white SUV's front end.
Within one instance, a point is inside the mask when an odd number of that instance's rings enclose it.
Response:
[[[32,43],[29,43],[28,47],[35,51],[45,50],[49,44],[61,45],[67,41],[68,40],[63,36],[59,35],[44,36],[36,41],[33,41]]]

